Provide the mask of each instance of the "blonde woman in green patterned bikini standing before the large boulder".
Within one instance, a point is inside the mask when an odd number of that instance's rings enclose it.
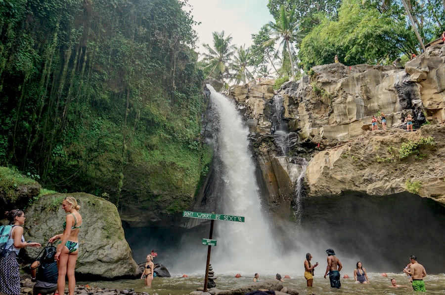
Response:
[[[73,197],[66,197],[62,202],[62,208],[66,213],[65,222],[63,222],[63,233],[57,234],[49,239],[52,243],[60,240],[57,246],[57,253],[54,258],[57,260],[59,269],[59,278],[57,279],[57,290],[59,294],[65,292],[65,276],[68,276],[69,295],[74,295],[76,287],[76,278],[74,277],[74,268],[79,254],[78,234],[82,226],[82,216],[78,210],[80,206]]]

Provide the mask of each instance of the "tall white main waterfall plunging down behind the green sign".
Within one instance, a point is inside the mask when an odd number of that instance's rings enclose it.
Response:
[[[212,108],[218,116],[216,152],[220,158],[223,187],[219,214],[244,216],[245,222],[215,221],[217,247],[212,265],[221,271],[259,272],[268,258],[275,258],[276,246],[261,210],[255,166],[249,151],[249,131],[235,105],[207,85]],[[261,257],[261,259],[259,258]]]

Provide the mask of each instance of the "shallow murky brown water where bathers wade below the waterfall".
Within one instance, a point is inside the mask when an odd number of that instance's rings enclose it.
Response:
[[[204,286],[204,277],[201,275],[188,275],[187,278],[182,278],[182,274],[172,274],[170,278],[157,277],[153,280],[152,288],[144,286],[143,280],[117,280],[117,281],[95,281],[95,282],[78,282],[78,284],[88,284],[91,287],[99,288],[115,288],[118,290],[134,288],[136,292],[148,292],[150,295],[158,293],[159,295],[187,295],[192,291],[195,291],[199,287]],[[284,274],[282,274],[284,276]],[[343,276],[343,274],[342,274]],[[395,278],[399,285],[409,286],[408,279],[404,274],[388,273],[388,278],[383,277],[380,273],[369,273],[368,277],[371,282],[369,285],[361,285],[354,283],[354,277],[352,279],[342,279],[341,289],[331,289],[329,286],[329,279],[323,279],[323,276],[316,275],[313,280],[313,287],[308,288],[306,286],[306,280],[302,275],[292,276],[290,279],[286,279],[283,284],[284,287],[296,289],[300,295],[309,294],[345,294],[345,295],[398,295],[398,294],[418,294],[412,289],[389,288],[391,285],[390,278]],[[267,280],[273,279],[272,275],[261,276],[260,279]],[[215,280],[216,288],[220,290],[227,290],[231,288],[241,287],[253,284],[251,277],[235,278],[234,276],[219,276]],[[445,294],[445,274],[428,275],[425,277],[425,286],[427,292],[425,294]]]

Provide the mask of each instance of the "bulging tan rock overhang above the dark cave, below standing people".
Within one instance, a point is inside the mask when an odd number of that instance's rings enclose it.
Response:
[[[432,136],[435,145],[418,148],[400,159],[403,143]],[[421,158],[421,159],[420,159]],[[409,190],[418,182],[417,194],[445,206],[445,125],[424,125],[416,132],[395,129],[368,132],[340,147],[317,153],[306,170],[313,195],[360,191],[389,195]]]

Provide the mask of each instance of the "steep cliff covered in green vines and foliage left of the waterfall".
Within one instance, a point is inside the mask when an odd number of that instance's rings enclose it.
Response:
[[[210,159],[184,5],[0,0],[0,165],[121,209],[160,192],[188,206]]]

